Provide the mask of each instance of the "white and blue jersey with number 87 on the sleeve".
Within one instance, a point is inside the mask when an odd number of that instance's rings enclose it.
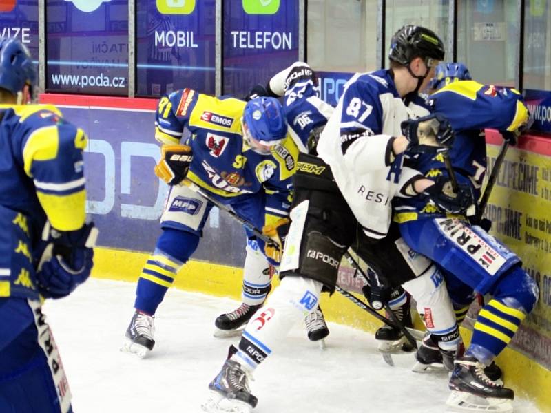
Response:
[[[369,237],[382,238],[391,223],[391,201],[421,175],[393,156],[400,124],[429,114],[415,99],[402,99],[390,70],[355,74],[318,142],[342,195]]]

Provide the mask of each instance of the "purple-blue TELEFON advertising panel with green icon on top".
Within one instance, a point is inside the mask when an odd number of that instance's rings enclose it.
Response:
[[[298,0],[223,0],[222,89],[245,96],[298,60]]]

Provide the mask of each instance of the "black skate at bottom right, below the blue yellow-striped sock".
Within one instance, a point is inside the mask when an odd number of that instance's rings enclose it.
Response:
[[[512,412],[514,392],[492,381],[484,367],[475,357],[457,357],[448,383],[452,394],[446,403],[461,410]]]

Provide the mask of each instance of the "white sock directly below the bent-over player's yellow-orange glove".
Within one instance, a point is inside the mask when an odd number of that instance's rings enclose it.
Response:
[[[247,240],[245,252],[242,300],[249,306],[257,306],[264,302],[270,290],[270,265],[255,240]]]

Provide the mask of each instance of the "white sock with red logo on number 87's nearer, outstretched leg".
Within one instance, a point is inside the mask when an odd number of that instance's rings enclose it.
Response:
[[[322,284],[287,276],[259,308],[243,331],[239,351],[231,359],[252,371],[287,335],[291,327],[318,306]]]

